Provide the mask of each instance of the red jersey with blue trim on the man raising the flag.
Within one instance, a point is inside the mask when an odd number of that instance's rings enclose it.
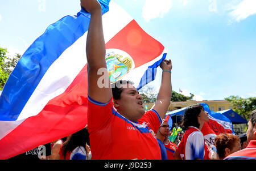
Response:
[[[92,159],[161,159],[160,147],[155,137],[162,119],[148,110],[138,122],[121,116],[108,103],[88,97],[88,131]]]

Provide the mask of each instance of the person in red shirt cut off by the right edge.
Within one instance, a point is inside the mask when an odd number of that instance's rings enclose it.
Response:
[[[234,152],[224,160],[256,160],[256,109],[250,114],[248,129],[246,132],[249,144],[246,148]]]

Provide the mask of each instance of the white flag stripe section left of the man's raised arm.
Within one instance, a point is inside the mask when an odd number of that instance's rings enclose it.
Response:
[[[17,120],[36,116],[49,100],[61,95],[86,64],[86,33],[49,67]]]

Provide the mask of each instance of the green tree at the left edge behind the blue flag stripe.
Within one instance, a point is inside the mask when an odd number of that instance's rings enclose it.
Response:
[[[21,55],[17,53],[14,57],[8,57],[7,53],[7,49],[0,47],[0,90],[2,90],[3,86],[5,86],[9,75],[21,57]]]

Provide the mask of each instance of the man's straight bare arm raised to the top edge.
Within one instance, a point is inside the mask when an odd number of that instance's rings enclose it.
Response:
[[[106,103],[112,97],[112,89],[106,69],[101,5],[97,0],[81,0],[81,6],[91,14],[86,40],[88,96],[98,102]],[[105,80],[105,82],[102,83],[98,80]],[[103,87],[104,83],[105,86]]]

